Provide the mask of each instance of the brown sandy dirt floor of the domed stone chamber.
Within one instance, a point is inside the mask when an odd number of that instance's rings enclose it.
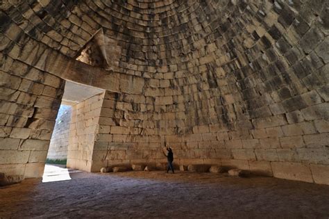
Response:
[[[329,218],[329,186],[212,173],[78,172],[0,187],[0,218]]]

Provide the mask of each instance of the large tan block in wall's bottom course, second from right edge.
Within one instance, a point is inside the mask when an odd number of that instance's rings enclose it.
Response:
[[[309,165],[291,162],[271,162],[273,177],[314,182]]]

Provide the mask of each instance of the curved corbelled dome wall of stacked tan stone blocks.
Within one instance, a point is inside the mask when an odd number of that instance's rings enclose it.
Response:
[[[54,122],[66,79],[108,90],[93,152],[79,155],[96,161],[88,170],[165,161],[169,143],[176,163],[329,184],[327,1],[32,0],[0,9],[5,142],[26,127],[17,115]],[[116,54],[110,68],[74,60],[99,29],[116,42],[99,45],[99,56]],[[20,88],[29,81],[42,92]],[[21,153],[24,138],[36,138],[21,132],[17,147],[1,143],[0,153]]]

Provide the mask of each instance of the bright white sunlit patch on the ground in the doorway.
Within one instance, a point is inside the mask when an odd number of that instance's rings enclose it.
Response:
[[[81,172],[80,170],[72,170],[65,168],[65,165],[50,165],[46,164],[44,167],[44,175],[42,182],[50,181],[65,181],[70,180],[70,173]]]

